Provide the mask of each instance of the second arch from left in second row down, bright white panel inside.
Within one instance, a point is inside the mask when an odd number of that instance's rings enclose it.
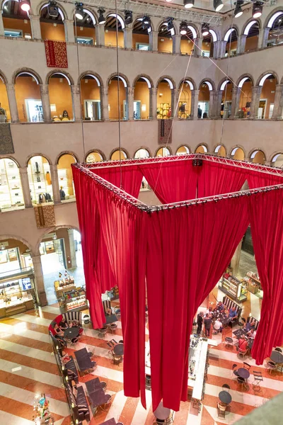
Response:
[[[15,94],[21,122],[43,121],[40,81],[35,74],[20,72],[16,77]]]

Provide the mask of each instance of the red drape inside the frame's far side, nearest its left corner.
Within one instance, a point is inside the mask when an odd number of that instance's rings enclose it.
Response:
[[[121,173],[120,167],[101,167],[97,169],[90,169],[98,176],[103,179],[110,181],[110,183],[120,188]],[[138,166],[125,166],[122,168],[122,189],[134,196],[139,197],[139,191],[141,188],[142,174],[139,171]]]

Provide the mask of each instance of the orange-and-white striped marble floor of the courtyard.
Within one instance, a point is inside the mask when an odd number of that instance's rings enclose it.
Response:
[[[216,289],[217,291],[217,289]],[[217,296],[221,298],[221,291]],[[248,300],[243,303],[243,316],[248,314],[259,318],[261,300],[253,294],[248,294]],[[62,380],[57,364],[51,353],[48,336],[48,326],[52,319],[59,314],[57,304],[30,310],[0,321],[0,424],[1,425],[32,425],[33,402],[35,395],[45,392],[50,399],[50,410],[54,415],[56,425],[71,425],[69,407],[66,400]],[[234,328],[235,329],[235,328]],[[233,330],[234,330],[233,329]],[[242,365],[238,358],[236,347],[226,348],[224,339],[233,336],[230,328],[224,329],[222,335],[212,336],[217,346],[209,349],[209,368],[205,382],[205,395],[202,409],[198,414],[190,400],[181,402],[180,411],[175,413],[176,425],[216,425],[233,424],[243,415],[250,413],[256,407],[267,402],[283,391],[283,375],[279,372],[267,372],[265,365],[255,365],[252,358],[246,361],[253,366],[252,370],[260,370],[263,382],[260,391],[255,391],[248,380],[248,389],[238,387],[231,373],[233,363]],[[93,376],[103,378],[108,384],[107,392],[112,395],[110,407],[91,417],[90,425],[99,425],[114,417],[124,425],[154,424],[151,409],[151,392],[146,390],[147,409],[141,407],[139,399],[125,397],[123,393],[123,365],[113,365],[108,354],[107,341],[122,338],[121,323],[118,323],[116,335],[106,334],[104,338],[98,332],[86,328],[86,334],[81,336],[76,349],[86,346],[94,351],[98,367],[92,375],[80,378],[80,384]],[[146,329],[146,339],[149,338]],[[73,353],[73,348],[67,348]],[[226,414],[226,419],[217,417],[216,405],[221,386],[227,383],[231,387],[232,402]],[[84,422],[83,425],[86,425]]]

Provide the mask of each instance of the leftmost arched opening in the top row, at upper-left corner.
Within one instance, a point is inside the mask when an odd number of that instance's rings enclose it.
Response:
[[[4,35],[11,38],[33,37],[30,15],[23,11],[18,1],[8,0],[2,3]]]

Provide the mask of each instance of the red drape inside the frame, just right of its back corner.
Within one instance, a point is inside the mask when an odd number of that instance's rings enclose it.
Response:
[[[202,162],[197,185],[197,198],[238,192],[246,180],[246,170],[235,166]]]

